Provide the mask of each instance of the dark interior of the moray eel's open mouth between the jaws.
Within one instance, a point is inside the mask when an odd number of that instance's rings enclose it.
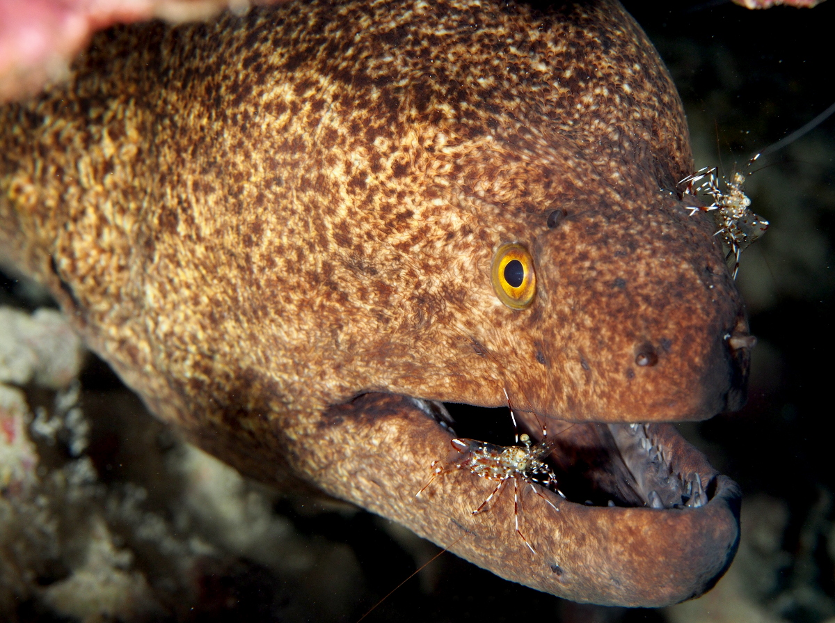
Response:
[[[516,445],[509,408],[460,403],[444,403],[444,407],[453,418],[450,426],[458,437]],[[535,422],[536,418],[531,414],[517,416],[520,434],[542,437],[541,425],[532,429],[522,421]],[[682,457],[665,446],[657,434],[664,425],[565,423],[552,419],[548,424],[548,437],[554,443],[548,463],[557,476],[559,491],[572,502],[683,509],[699,508],[713,497],[716,479],[677,469]]]

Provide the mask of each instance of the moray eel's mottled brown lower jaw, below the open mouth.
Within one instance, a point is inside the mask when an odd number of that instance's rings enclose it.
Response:
[[[731,564],[740,489],[669,424],[549,420],[549,430],[564,429],[549,462],[565,498],[514,479],[473,514],[497,483],[468,469],[432,479],[453,439],[438,419],[437,403],[389,394],[331,408],[326,435],[355,442],[335,446],[334,466],[350,486],[333,493],[508,580],[575,601],[670,605],[710,589]]]

